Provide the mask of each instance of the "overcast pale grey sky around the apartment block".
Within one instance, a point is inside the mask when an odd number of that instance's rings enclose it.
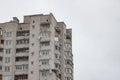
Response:
[[[73,30],[74,80],[120,80],[120,0],[0,0],[0,23],[50,12]]]

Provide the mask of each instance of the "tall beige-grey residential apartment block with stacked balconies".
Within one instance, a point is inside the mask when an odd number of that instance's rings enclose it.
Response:
[[[73,80],[72,30],[52,13],[0,23],[0,80]]]

